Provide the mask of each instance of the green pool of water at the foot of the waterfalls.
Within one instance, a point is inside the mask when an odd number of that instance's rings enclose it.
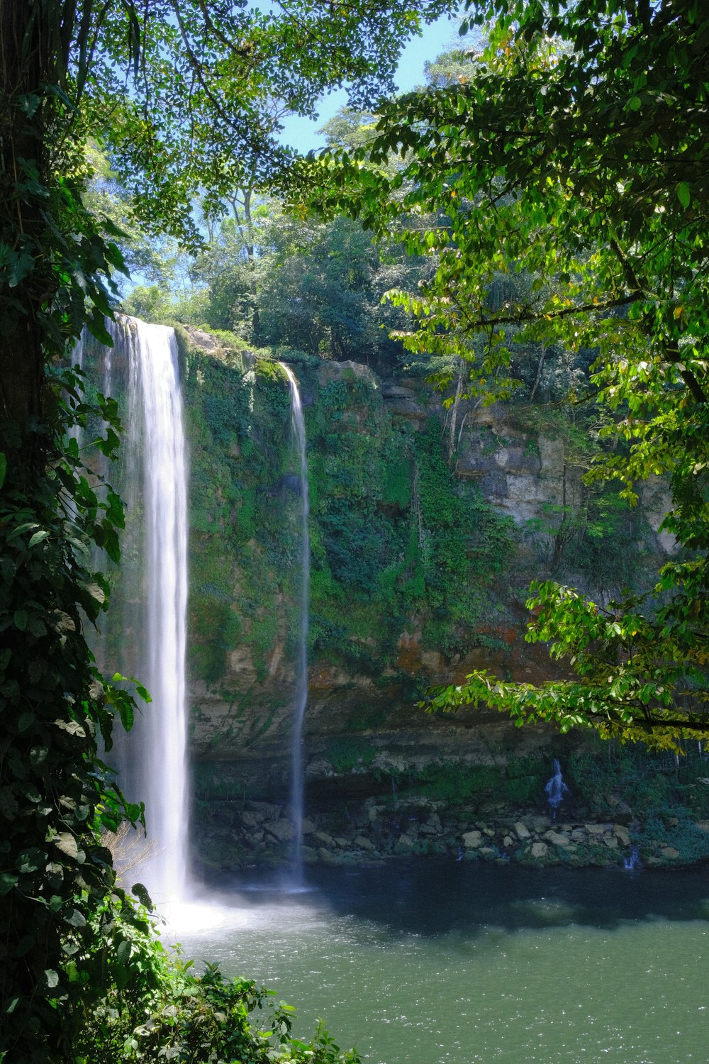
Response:
[[[709,1045],[707,872],[412,862],[221,882],[168,914],[198,961],[368,1064],[679,1064]]]

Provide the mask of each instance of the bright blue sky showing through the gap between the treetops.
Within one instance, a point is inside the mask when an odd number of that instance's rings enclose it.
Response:
[[[460,40],[458,36],[458,19],[443,15],[436,22],[423,29],[423,36],[413,37],[406,45],[396,69],[396,85],[401,93],[407,93],[416,85],[423,84],[423,65],[426,60],[434,60],[446,48],[455,46]],[[298,148],[301,152],[323,148],[322,136],[318,130],[347,103],[347,93],[339,89],[323,97],[317,119],[301,118],[293,115],[284,121],[281,139]]]

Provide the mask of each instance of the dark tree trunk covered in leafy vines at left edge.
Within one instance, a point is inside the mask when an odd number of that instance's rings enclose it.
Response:
[[[16,1064],[69,1057],[80,959],[114,882],[97,810],[116,822],[119,805],[96,760],[116,695],[83,627],[105,600],[87,547],[115,553],[121,515],[67,448],[85,409],[62,368],[86,292],[105,304],[85,280],[105,256],[47,150],[67,133],[73,17],[71,3],[0,0],[0,1059]]]

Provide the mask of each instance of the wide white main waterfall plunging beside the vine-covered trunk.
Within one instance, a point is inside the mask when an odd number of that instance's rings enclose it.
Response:
[[[185,647],[187,611],[187,463],[178,347],[172,329],[120,318],[109,326],[103,381],[121,367],[123,467],[109,478],[125,502],[118,598],[119,667],[137,677],[152,703],[136,714],[116,754],[119,783],[145,801],[148,857],[131,870],[156,902],[184,896],[187,868]],[[113,367],[112,367],[113,363]]]

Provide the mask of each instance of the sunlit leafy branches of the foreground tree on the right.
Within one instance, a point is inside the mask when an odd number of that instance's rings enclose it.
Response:
[[[651,595],[596,604],[533,588],[528,638],[577,679],[473,674],[433,708],[480,700],[519,722],[671,745],[709,728],[709,17],[694,0],[469,6],[490,20],[485,49],[460,56],[453,83],[381,107],[367,146],[300,163],[291,202],[437,256],[431,280],[393,294],[418,319],[404,340],[466,360],[486,402],[514,387],[510,325],[595,352],[592,388],[572,398],[612,413],[618,450],[588,479],[620,480],[630,503],[639,481],[671,484],[663,527],[680,550]],[[435,226],[411,223],[432,212]],[[530,285],[493,299],[510,273]]]

